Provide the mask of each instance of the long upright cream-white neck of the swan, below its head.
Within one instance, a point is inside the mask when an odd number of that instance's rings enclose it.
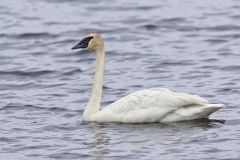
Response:
[[[96,51],[96,72],[93,81],[93,87],[91,97],[83,112],[83,119],[89,120],[90,117],[97,113],[100,109],[102,87],[103,87],[103,75],[104,75],[104,48]]]

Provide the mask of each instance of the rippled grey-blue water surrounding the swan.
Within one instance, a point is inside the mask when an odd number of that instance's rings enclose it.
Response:
[[[239,9],[236,0],[1,0],[0,159],[240,159]],[[191,122],[82,122],[95,59],[70,48],[89,31],[106,43],[103,106],[159,86],[226,107]]]

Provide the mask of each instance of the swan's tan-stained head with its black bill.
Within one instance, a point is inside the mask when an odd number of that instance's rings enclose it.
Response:
[[[104,47],[103,38],[99,33],[88,33],[77,45],[72,49],[86,48],[91,51],[102,50]]]

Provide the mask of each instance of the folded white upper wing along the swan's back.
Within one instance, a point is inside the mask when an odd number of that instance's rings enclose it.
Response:
[[[106,108],[110,108],[114,112],[121,113],[140,108],[146,109],[150,107],[163,107],[165,109],[177,109],[183,106],[206,103],[208,103],[207,100],[196,95],[172,92],[165,88],[153,88],[129,94]]]

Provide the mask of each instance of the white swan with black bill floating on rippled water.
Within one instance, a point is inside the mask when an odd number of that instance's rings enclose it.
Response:
[[[151,123],[208,118],[223,104],[209,104],[197,95],[150,88],[131,93],[100,110],[104,75],[104,40],[99,33],[88,33],[72,49],[86,48],[96,56],[96,72],[83,121]]]

